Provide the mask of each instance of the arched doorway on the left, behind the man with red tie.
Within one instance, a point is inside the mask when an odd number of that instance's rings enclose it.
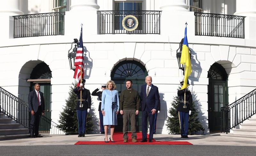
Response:
[[[39,131],[50,132],[51,128],[51,104],[52,104],[52,71],[49,66],[42,62],[35,66],[30,74],[30,91],[34,90],[35,83],[40,84],[40,91],[44,93],[45,118],[41,118]]]

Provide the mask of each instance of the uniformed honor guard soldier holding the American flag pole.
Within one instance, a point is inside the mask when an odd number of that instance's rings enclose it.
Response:
[[[91,109],[91,93],[88,89],[84,88],[84,83],[85,80],[82,79],[80,86],[74,89],[74,93],[77,95],[76,115],[78,120],[78,137],[85,136],[87,113],[89,113]]]

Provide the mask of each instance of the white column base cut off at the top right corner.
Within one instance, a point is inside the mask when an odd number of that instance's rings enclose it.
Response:
[[[256,17],[256,0],[236,0],[236,16]]]

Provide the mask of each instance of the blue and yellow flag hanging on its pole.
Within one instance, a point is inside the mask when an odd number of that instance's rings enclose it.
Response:
[[[186,25],[186,28],[185,28],[185,36],[184,36],[184,41],[183,41],[183,45],[182,45],[180,63],[184,64],[184,66],[185,66],[184,82],[187,82],[188,77],[192,72],[190,55],[189,55],[189,48],[188,48],[187,25]],[[183,83],[183,86],[181,87],[181,89],[185,89],[187,87],[188,87],[188,84]]]

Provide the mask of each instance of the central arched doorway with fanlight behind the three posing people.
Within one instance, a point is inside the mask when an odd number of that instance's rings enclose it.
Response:
[[[148,76],[148,72],[144,65],[134,60],[125,60],[118,63],[111,72],[111,80],[115,81],[118,94],[126,89],[125,80],[131,79],[133,83],[133,89],[140,93],[141,85],[145,84],[145,77]],[[123,131],[123,116],[117,115],[117,126],[115,131]],[[130,125],[130,123],[129,123]],[[136,116],[136,130],[141,131],[141,112]],[[128,131],[131,130],[129,126]]]

